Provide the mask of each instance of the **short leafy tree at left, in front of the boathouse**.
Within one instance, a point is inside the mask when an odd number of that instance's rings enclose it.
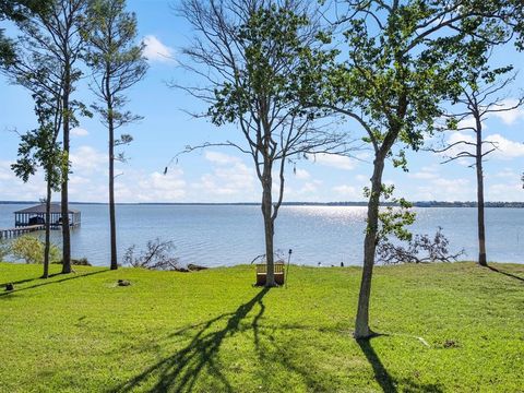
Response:
[[[46,218],[45,218],[45,247],[44,247],[44,273],[43,278],[49,277],[49,259],[51,250],[51,196],[52,191],[60,190],[62,177],[63,156],[57,142],[60,130],[61,108],[60,97],[55,100],[43,90],[33,94],[35,99],[35,114],[38,119],[38,128],[21,136],[19,146],[19,159],[11,167],[19,176],[28,181],[37,168],[43,168],[46,179]],[[58,98],[58,99],[57,99]],[[56,104],[56,105],[53,105]]]

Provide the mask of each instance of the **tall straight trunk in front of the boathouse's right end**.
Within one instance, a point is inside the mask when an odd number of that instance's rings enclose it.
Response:
[[[63,82],[63,152],[66,153],[67,164],[62,174],[62,273],[71,273],[71,231],[69,227],[69,128],[70,128],[70,105],[69,95],[71,92],[71,70],[69,66],[66,67]]]

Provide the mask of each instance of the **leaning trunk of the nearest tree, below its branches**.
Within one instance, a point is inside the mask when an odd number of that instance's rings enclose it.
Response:
[[[360,293],[358,295],[357,318],[355,321],[355,338],[370,337],[373,332],[369,327],[369,301],[371,297],[371,278],[374,265],[374,252],[377,248],[377,233],[379,228],[379,204],[382,190],[382,172],[384,158],[374,159],[373,177],[371,178],[371,194],[368,202],[368,226],[364,240],[364,266]]]

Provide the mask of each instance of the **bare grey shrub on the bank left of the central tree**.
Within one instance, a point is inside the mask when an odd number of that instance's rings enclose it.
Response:
[[[172,241],[163,241],[158,238],[147,241],[146,250],[135,257],[133,245],[128,248],[123,254],[123,264],[132,267],[142,267],[150,270],[178,271],[178,258],[170,253],[175,249]]]

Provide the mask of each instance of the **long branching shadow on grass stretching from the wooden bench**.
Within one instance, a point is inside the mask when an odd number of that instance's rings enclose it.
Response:
[[[247,303],[241,305],[235,312],[225,313],[211,319],[204,323],[181,329],[170,335],[170,337],[186,334],[189,330],[199,329],[191,342],[182,349],[169,356],[156,365],[147,368],[141,374],[132,378],[123,384],[111,389],[111,392],[129,392],[141,383],[145,383],[151,378],[156,378],[153,388],[147,389],[150,392],[191,392],[194,384],[199,380],[201,372],[207,368],[210,373],[215,376],[221,382],[221,392],[233,392],[234,389],[219,366],[216,364],[221,345],[227,336],[231,336],[240,330],[241,321],[258,303],[261,306],[260,319],[263,313],[264,306],[262,298],[267,294],[270,288],[263,288]],[[257,319],[257,317],[255,317]],[[211,331],[215,323],[226,320],[226,325],[217,331]],[[210,386],[210,391],[214,391]]]

